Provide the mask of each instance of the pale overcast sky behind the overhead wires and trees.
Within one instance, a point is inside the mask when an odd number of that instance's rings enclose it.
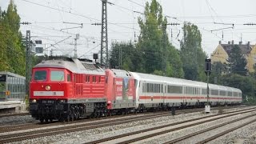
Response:
[[[144,11],[146,0],[108,0],[114,5],[107,6],[108,36],[111,42],[127,42],[138,39],[138,17]],[[198,26],[202,34],[202,49],[210,56],[218,42],[234,40],[234,43],[256,43],[256,1],[255,0],[158,0],[168,22],[180,26],[168,26],[170,42],[179,49],[182,39],[183,22]],[[91,23],[101,22],[101,0],[14,0],[21,22],[31,22],[21,26],[23,35],[31,31],[32,39],[42,39],[46,47],[62,39],[63,42],[49,47],[54,54],[74,54],[75,34],[79,34],[78,57],[92,58],[100,50],[101,26]],[[6,10],[9,0],[0,0],[2,10]],[[134,12],[137,11],[137,12]],[[81,25],[63,22],[83,23]],[[214,24],[215,22],[215,24]],[[216,24],[222,23],[222,24]],[[234,29],[232,28],[234,24]],[[70,29],[73,28],[73,29]],[[221,29],[221,30],[220,30]],[[173,38],[171,38],[171,31]],[[180,34],[179,34],[180,33]]]

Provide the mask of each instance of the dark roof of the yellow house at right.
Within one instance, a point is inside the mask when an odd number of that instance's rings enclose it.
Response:
[[[233,49],[233,47],[235,46],[236,44],[221,44],[221,46],[223,47],[223,49],[226,51],[226,53],[228,55],[230,55],[231,53],[231,50]],[[240,50],[242,51],[242,54],[250,54],[250,51],[252,50],[253,48],[253,45],[250,45],[250,43],[247,43],[247,44],[242,44],[242,43],[239,43],[237,45]]]

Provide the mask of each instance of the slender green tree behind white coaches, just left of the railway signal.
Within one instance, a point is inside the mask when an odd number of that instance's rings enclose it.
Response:
[[[185,23],[182,29],[184,39],[181,41],[181,58],[185,78],[206,81],[206,74],[204,74],[206,53],[202,50],[202,35],[198,26]]]

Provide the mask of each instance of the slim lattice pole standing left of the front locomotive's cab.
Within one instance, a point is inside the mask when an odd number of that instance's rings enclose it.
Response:
[[[26,30],[26,94],[30,94],[31,79],[31,42],[30,30]]]

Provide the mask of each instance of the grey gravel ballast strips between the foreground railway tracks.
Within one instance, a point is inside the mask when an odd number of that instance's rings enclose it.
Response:
[[[224,110],[224,112],[242,110],[242,109],[243,108],[230,109],[230,110]],[[126,133],[137,131],[137,130],[145,130],[145,129],[148,129],[150,127],[162,126],[162,125],[166,125],[167,123],[173,123],[173,122],[182,122],[182,121],[185,121],[185,120],[188,120],[188,119],[200,118],[200,117],[203,117],[203,116],[206,116],[206,115],[212,115],[212,114],[217,114],[217,113],[218,113],[218,110],[212,110],[210,114],[204,114],[202,112],[196,112],[196,113],[190,113],[190,114],[178,114],[175,117],[166,116],[166,117],[160,117],[160,118],[152,118],[152,119],[147,119],[147,120],[144,120],[144,121],[130,122],[130,123],[117,125],[117,126],[106,126],[106,127],[103,127],[103,128],[97,128],[97,129],[93,129],[93,130],[83,130],[83,131],[72,132],[72,133],[68,133],[68,134],[58,134],[58,135],[53,135],[53,136],[47,136],[47,137],[44,137],[44,138],[34,138],[34,139],[28,139],[28,140],[25,140],[25,141],[22,141],[22,142],[13,142],[13,143],[59,143],[60,144],[60,143],[91,142],[91,141],[94,141],[94,140],[98,140],[98,139],[102,139],[102,138],[108,138],[108,137],[112,137],[112,136],[119,135],[119,134],[126,134]],[[184,130],[176,131],[175,133],[169,133],[169,134],[161,135],[161,136],[158,136],[158,137],[149,138],[149,139],[146,139],[144,141],[137,142],[137,143],[162,143],[162,142],[166,142],[166,141],[169,141],[170,139],[178,138],[178,137],[181,137],[182,135],[193,133],[195,130],[202,130],[202,129],[205,129],[206,127],[214,126],[214,123],[219,124],[219,123],[222,123],[222,122],[227,122],[227,121],[230,121],[234,118],[240,118],[240,117],[243,117],[245,115],[246,114],[240,114],[239,116],[236,116],[236,117],[223,118],[223,119],[215,121],[215,122],[207,122],[207,123],[202,124],[200,126],[194,126],[192,128],[187,128],[187,129],[184,129]],[[255,133],[255,129],[256,129],[256,124],[255,123],[252,124],[252,126],[248,126],[248,127],[250,129],[252,129],[251,131],[254,130],[254,133]],[[243,131],[245,128],[246,128],[246,126],[242,127],[241,129],[238,130],[238,131],[241,132],[241,135],[246,135],[246,134],[243,134],[243,133],[246,133],[246,132]],[[250,138],[248,138],[247,141],[252,141],[254,139],[254,136],[255,136],[254,133],[250,133]],[[228,139],[227,138],[220,138],[219,140],[216,139],[216,140],[213,141],[213,143],[215,141],[217,143],[234,142],[234,140],[232,138],[237,138],[237,139],[244,138],[243,136],[238,137],[239,134],[237,134],[237,136],[235,136],[236,134],[233,134],[233,135],[230,135]],[[228,137],[228,134],[227,134],[227,137]]]

